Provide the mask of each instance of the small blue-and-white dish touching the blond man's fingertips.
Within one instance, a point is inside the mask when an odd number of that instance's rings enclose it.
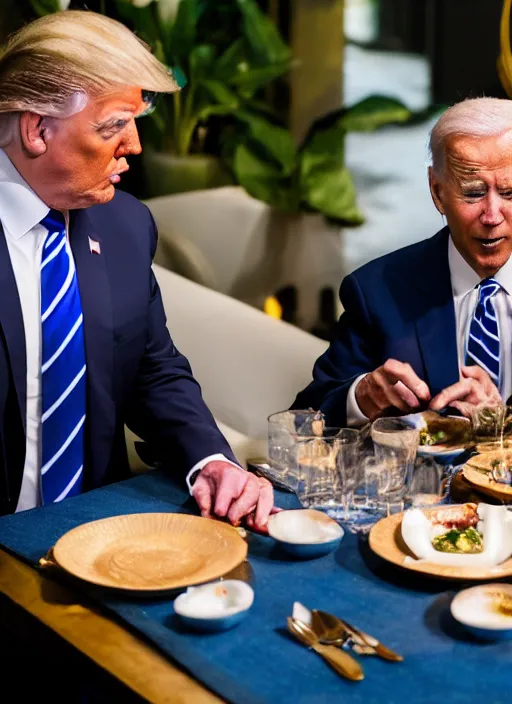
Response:
[[[305,559],[332,552],[344,535],[334,519],[311,508],[279,511],[270,516],[267,527],[283,550]]]

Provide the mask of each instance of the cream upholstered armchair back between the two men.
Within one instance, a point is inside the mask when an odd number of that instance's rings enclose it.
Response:
[[[267,417],[288,408],[327,343],[154,266],[173,340],[239,462],[267,453]],[[132,467],[141,468],[128,433]]]

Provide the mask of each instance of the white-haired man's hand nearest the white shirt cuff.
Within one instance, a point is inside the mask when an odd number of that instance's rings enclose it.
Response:
[[[380,418],[392,409],[403,415],[413,413],[430,400],[428,386],[411,365],[396,359],[388,359],[361,379],[355,394],[359,408],[370,420]]]

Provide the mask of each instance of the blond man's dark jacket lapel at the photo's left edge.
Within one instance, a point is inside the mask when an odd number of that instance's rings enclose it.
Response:
[[[21,312],[20,297],[11,258],[5,240],[5,233],[0,224],[0,325],[2,327],[11,362],[12,376],[18,405],[26,432],[27,416],[27,352],[25,346],[25,328]]]

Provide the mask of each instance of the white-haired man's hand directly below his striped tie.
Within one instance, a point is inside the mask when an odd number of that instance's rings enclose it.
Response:
[[[475,406],[496,406],[503,403],[500,392],[481,367],[462,367],[461,372],[460,381],[443,389],[432,399],[430,408],[433,411],[453,406],[469,418]]]

